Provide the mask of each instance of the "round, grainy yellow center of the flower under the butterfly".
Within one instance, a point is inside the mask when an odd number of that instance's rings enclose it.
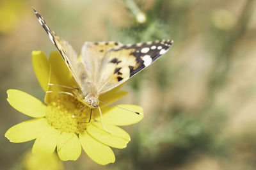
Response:
[[[74,97],[52,95],[52,102],[47,105],[48,111],[45,114],[45,118],[49,125],[61,130],[61,132],[79,134],[90,123],[91,109],[87,106],[83,107],[84,104]]]

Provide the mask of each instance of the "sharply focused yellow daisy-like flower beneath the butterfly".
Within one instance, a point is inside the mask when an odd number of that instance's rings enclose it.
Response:
[[[58,52],[52,52],[47,59],[43,52],[33,51],[32,61],[36,77],[44,91],[71,92],[60,86],[49,86],[49,79],[52,84],[76,87],[76,82]],[[105,93],[99,100],[112,103],[127,95],[126,91],[119,91],[119,88]],[[143,109],[139,106],[106,107],[107,104],[100,103],[104,127],[109,131],[106,132],[102,128],[98,109],[93,109],[92,119],[88,123],[91,110],[86,107],[79,111],[84,105],[70,95],[46,93],[45,105],[17,89],[8,89],[7,93],[10,105],[33,119],[14,125],[7,130],[5,136],[13,143],[36,139],[33,153],[53,153],[57,148],[61,160],[76,160],[83,148],[98,164],[115,162],[115,155],[109,146],[125,148],[130,141],[129,134],[117,126],[131,125],[143,118]],[[141,115],[125,109],[140,112]],[[75,118],[72,118],[78,111]]]

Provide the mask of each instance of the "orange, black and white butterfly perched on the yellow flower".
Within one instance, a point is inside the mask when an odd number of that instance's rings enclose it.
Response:
[[[99,107],[99,96],[130,79],[151,65],[172,46],[172,40],[123,45],[120,42],[85,42],[82,58],[71,45],[51,31],[42,16],[33,8],[51,42],[56,46],[77,82],[74,95],[90,108]]]

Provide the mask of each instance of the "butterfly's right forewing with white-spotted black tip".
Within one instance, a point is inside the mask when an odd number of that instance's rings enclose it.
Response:
[[[108,50],[102,59],[99,94],[115,88],[151,65],[172,46],[172,40],[123,45]]]

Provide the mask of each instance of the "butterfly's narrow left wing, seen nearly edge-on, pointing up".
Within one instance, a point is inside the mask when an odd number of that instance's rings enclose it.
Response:
[[[88,72],[86,72],[86,70],[83,69],[83,65],[81,63],[77,62],[77,54],[72,48],[72,46],[68,42],[62,40],[59,36],[57,36],[56,33],[54,33],[54,31],[51,31],[51,29],[45,23],[43,17],[38,12],[36,12],[35,8],[33,8],[33,10],[38,21],[40,22],[42,27],[44,27],[51,42],[56,46],[56,48],[60,52],[61,57],[64,59],[66,65],[68,66],[68,69],[72,73],[74,79],[77,82],[77,85],[79,86],[79,89],[81,90],[81,77],[83,77],[83,79],[86,79],[88,77]]]

